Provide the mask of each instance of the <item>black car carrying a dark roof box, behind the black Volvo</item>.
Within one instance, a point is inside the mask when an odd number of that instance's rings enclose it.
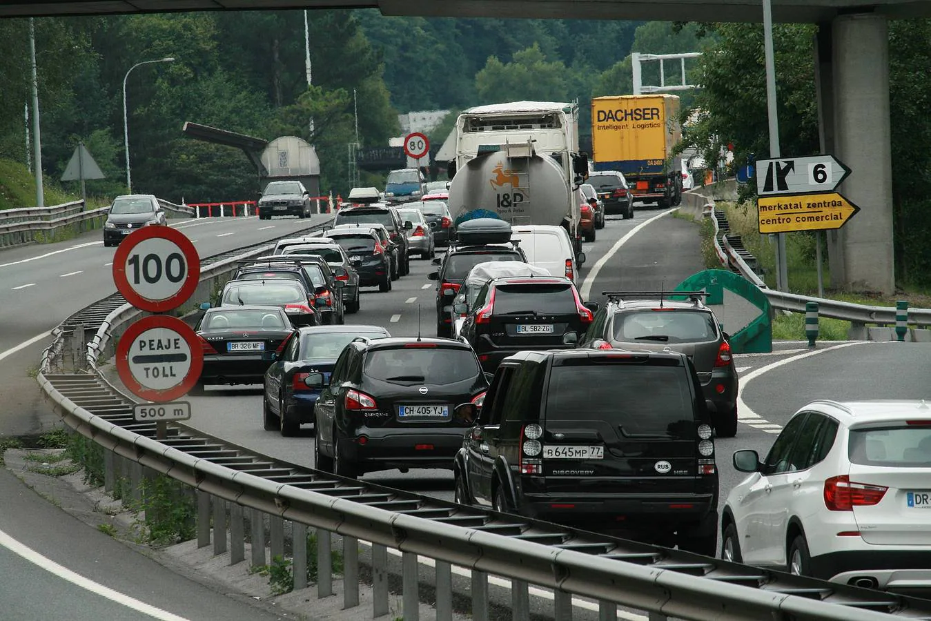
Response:
[[[479,263],[519,261],[527,263],[518,242],[509,241],[511,225],[503,220],[477,218],[459,224],[458,239],[450,242],[446,254],[433,260],[439,270],[426,277],[437,285],[437,336],[452,336],[452,301],[468,273]]]

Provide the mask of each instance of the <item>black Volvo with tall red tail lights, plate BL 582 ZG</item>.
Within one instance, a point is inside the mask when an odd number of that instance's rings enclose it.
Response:
[[[459,337],[472,345],[485,371],[522,350],[560,349],[575,344],[588,329],[598,304],[582,304],[566,277],[497,277],[482,287],[467,313]],[[469,310],[471,308],[471,310]]]

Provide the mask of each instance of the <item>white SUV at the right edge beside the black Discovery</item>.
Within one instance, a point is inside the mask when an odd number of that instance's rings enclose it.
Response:
[[[931,406],[813,401],[722,510],[725,560],[883,589],[931,587]]]

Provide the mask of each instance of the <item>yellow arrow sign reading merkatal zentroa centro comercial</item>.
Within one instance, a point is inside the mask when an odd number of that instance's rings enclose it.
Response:
[[[797,196],[760,196],[760,233],[790,233],[841,228],[860,210],[836,192]]]

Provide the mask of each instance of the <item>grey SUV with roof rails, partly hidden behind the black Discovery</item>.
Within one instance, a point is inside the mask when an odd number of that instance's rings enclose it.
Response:
[[[737,433],[737,371],[728,335],[702,303],[704,291],[604,291],[605,304],[578,346],[679,351],[695,365],[720,438]],[[677,298],[679,298],[677,300]],[[685,298],[686,301],[682,301]]]

